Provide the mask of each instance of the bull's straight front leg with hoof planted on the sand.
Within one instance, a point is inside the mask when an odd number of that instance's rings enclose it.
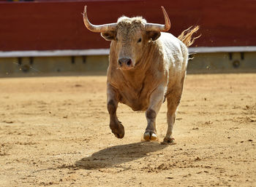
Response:
[[[156,118],[160,107],[162,106],[162,101],[164,99],[165,87],[161,84],[154,92],[151,93],[150,103],[148,109],[146,110],[146,119],[148,125],[146,127],[146,132],[143,135],[144,140],[156,140],[157,139],[157,129],[156,129]]]

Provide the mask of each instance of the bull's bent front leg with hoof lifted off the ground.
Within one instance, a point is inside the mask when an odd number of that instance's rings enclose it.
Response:
[[[116,138],[124,138],[124,126],[118,121],[116,109],[118,106],[118,92],[109,83],[107,84],[108,113],[110,115],[110,129]]]

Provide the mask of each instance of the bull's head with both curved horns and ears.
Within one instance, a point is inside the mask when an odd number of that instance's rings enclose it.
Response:
[[[156,41],[161,32],[170,29],[170,19],[162,7],[165,16],[165,25],[146,23],[142,17],[120,17],[117,23],[93,25],[89,22],[86,7],[83,13],[83,22],[90,31],[101,33],[108,41],[116,45],[117,67],[123,70],[134,68],[143,56],[146,46]]]

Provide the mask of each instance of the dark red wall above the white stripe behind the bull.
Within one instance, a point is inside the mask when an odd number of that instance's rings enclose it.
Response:
[[[109,41],[83,25],[85,4],[94,24],[113,23],[121,15],[164,23],[162,5],[175,36],[190,25],[201,26],[198,47],[256,46],[254,0],[1,1],[0,51],[108,48]]]

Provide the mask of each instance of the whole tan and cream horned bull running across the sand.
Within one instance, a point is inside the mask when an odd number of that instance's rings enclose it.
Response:
[[[110,43],[107,95],[110,129],[124,138],[124,126],[116,116],[118,103],[133,111],[146,111],[144,140],[156,140],[156,117],[167,100],[167,132],[163,143],[174,143],[173,124],[187,73],[188,49],[199,27],[189,28],[178,38],[170,33],[170,19],[162,7],[165,25],[147,23],[143,17],[119,17],[117,23],[93,25],[86,7],[83,22]]]

